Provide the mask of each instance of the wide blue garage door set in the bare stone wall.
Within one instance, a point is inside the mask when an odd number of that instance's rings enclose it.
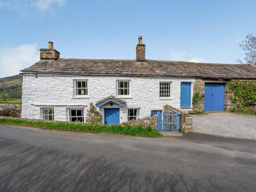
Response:
[[[205,83],[204,111],[224,111],[224,83]]]

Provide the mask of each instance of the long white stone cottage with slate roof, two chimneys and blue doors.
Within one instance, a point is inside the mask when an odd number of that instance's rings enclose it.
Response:
[[[256,79],[251,65],[145,59],[142,37],[136,60],[63,59],[49,42],[40,61],[21,71],[22,118],[84,122],[90,103],[106,124],[145,118],[168,104],[192,110],[196,83],[205,88],[205,111],[225,110],[225,82]]]

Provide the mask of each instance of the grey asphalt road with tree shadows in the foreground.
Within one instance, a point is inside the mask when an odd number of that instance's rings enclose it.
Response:
[[[0,191],[255,191],[256,141],[0,125]]]

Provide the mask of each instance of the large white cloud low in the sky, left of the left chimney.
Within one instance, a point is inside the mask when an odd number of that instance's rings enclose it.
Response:
[[[20,70],[33,65],[39,60],[36,44],[0,50],[0,77],[19,74]]]

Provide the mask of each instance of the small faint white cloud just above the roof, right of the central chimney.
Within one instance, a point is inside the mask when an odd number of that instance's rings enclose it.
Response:
[[[203,58],[198,58],[197,56],[188,54],[186,51],[171,51],[170,59],[173,61],[205,62]]]

